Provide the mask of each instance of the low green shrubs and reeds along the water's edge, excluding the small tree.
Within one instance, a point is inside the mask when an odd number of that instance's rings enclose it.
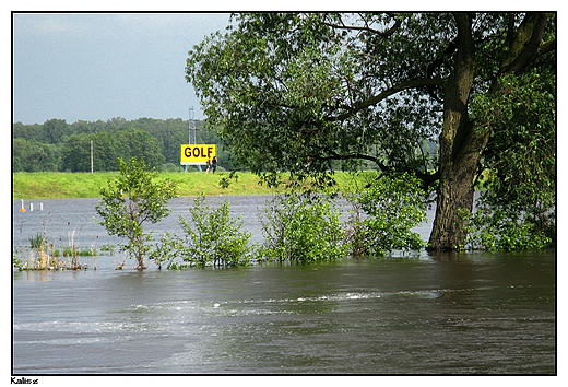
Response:
[[[258,210],[263,241],[250,243],[250,233],[240,220],[230,216],[227,200],[210,208],[199,196],[189,209],[189,218],[179,216],[184,235],[166,232],[155,243],[146,241],[145,258],[158,268],[232,267],[253,262],[298,262],[335,260],[345,257],[383,257],[392,251],[412,253],[426,246],[413,231],[425,219],[424,191],[416,179],[401,176],[374,178],[367,174],[351,180],[343,192],[274,195]],[[375,175],[376,176],[376,175]],[[335,199],[350,204],[350,219],[340,222]],[[472,222],[471,239],[464,249],[513,250],[549,246],[551,238],[539,244],[526,225],[492,230],[486,222]],[[478,225],[478,228],[475,226]],[[122,269],[129,254],[117,256],[110,246],[79,246],[69,233],[69,245],[47,241],[43,234],[28,238],[28,246],[13,250],[13,266],[19,270],[86,269],[80,257],[113,255],[116,268]],[[483,242],[483,243],[481,243]],[[133,256],[133,255],[132,255]],[[149,265],[149,266],[150,266]],[[88,265],[91,267],[91,265]]]

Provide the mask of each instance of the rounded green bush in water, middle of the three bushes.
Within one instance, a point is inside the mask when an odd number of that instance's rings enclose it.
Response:
[[[344,258],[341,212],[327,196],[275,196],[259,214],[261,259],[315,262]]]

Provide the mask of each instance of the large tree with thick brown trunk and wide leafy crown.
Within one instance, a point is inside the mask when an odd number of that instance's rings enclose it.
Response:
[[[236,162],[269,181],[289,171],[327,183],[338,162],[413,172],[425,187],[437,184],[431,249],[464,242],[466,222],[460,220],[472,210],[484,151],[498,140],[511,92],[505,80],[540,74],[543,63],[556,60],[554,14],[235,19],[225,34],[189,51],[186,78]],[[519,87],[530,94],[529,85]],[[436,160],[427,140],[439,145]]]

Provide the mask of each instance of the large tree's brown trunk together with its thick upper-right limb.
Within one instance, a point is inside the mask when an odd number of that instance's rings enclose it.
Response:
[[[474,77],[475,48],[468,14],[454,15],[458,25],[458,55],[451,77],[445,85],[443,128],[440,134],[440,183],[436,218],[429,250],[452,250],[463,245],[468,233],[463,212],[473,208],[474,177],[482,152],[487,145],[490,128],[475,127],[468,117],[468,98]],[[498,72],[520,74],[539,55],[548,16],[529,13],[517,32],[509,31],[509,52]],[[542,50],[554,49],[555,42]],[[489,93],[501,92],[498,77]]]

